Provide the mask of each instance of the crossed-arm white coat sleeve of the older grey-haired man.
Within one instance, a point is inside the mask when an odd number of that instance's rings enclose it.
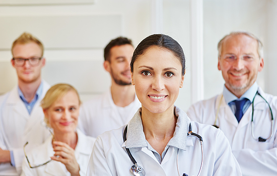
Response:
[[[249,148],[233,150],[244,176],[250,175],[277,175],[277,148],[276,136],[274,147],[264,151],[254,151]]]

